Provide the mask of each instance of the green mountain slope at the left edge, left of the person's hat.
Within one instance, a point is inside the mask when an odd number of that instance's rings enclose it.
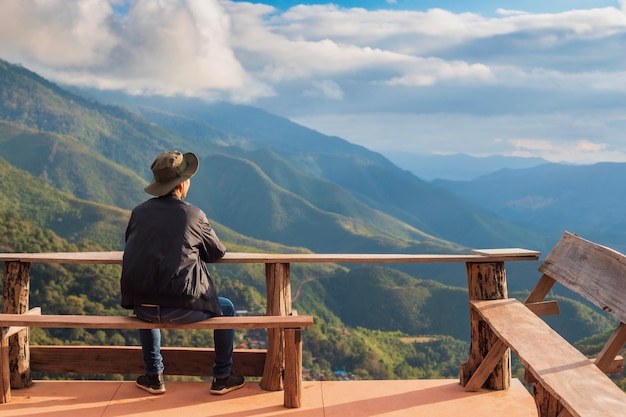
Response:
[[[132,208],[145,198],[153,156],[199,147],[119,106],[74,95],[0,60],[0,151],[50,185],[105,204]]]

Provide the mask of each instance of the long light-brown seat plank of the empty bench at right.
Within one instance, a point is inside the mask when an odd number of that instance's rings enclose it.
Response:
[[[524,304],[504,299],[470,305],[573,416],[624,416],[626,393]]]

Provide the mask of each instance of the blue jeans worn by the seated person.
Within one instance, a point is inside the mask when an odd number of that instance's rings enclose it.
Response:
[[[234,316],[235,306],[224,297],[219,297],[220,306],[224,316]],[[187,310],[184,308],[172,307],[135,307],[135,314],[142,320],[151,323],[195,323],[204,319],[214,317],[208,311]],[[143,361],[147,374],[162,373],[163,357],[161,356],[161,330],[160,329],[140,329],[139,339],[141,340],[141,350],[143,351]],[[213,376],[215,378],[225,378],[230,375],[230,368],[233,364],[233,342],[235,330],[214,330],[213,339],[215,342],[215,363],[213,364]]]

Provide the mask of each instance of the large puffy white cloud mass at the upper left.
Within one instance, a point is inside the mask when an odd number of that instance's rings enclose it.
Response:
[[[230,16],[217,1],[138,0],[124,15],[101,0],[73,4],[3,2],[0,53],[60,82],[133,92],[202,95],[255,84],[230,47]]]

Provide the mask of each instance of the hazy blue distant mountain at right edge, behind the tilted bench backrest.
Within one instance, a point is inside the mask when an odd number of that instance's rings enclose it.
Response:
[[[543,164],[435,183],[498,216],[551,235],[568,230],[626,251],[626,163]]]

